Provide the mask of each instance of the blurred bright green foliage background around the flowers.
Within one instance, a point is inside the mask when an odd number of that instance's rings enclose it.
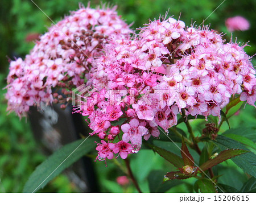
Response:
[[[57,22],[69,11],[77,10],[79,2],[85,6],[88,1],[83,0],[35,0],[35,3],[51,18]],[[234,31],[233,40],[237,37],[237,42],[248,42],[245,48],[248,55],[255,53],[255,8],[256,1],[252,0],[113,0],[113,1],[90,1],[90,5],[95,7],[101,3],[110,3],[118,6],[118,14],[126,20],[128,24],[133,23],[132,28],[138,28],[148,23],[148,19],[159,18],[159,14],[168,16],[174,15],[174,18],[183,20],[187,26],[191,22],[199,25],[203,19],[209,18],[204,24],[210,24],[210,27],[220,32],[226,33],[224,38],[229,42],[230,32],[225,27],[225,20],[229,17],[241,15],[250,22],[250,29],[247,31]],[[222,5],[212,13],[220,4]],[[180,15],[181,13],[181,15]],[[212,14],[211,14],[212,13]],[[7,102],[4,98],[6,90],[6,76],[9,71],[8,59],[14,57],[26,56],[34,46],[33,40],[47,31],[51,26],[51,21],[42,13],[30,0],[1,0],[0,2],[0,192],[22,192],[24,184],[28,177],[34,171],[35,167],[42,163],[47,156],[43,154],[38,144],[36,144],[30,122],[26,118],[21,120],[15,114],[6,113]],[[138,31],[137,31],[138,32]],[[255,65],[255,59],[253,59]],[[234,128],[254,125],[256,121],[255,109],[246,105],[238,115],[230,119],[230,125]],[[195,125],[202,125],[196,121]],[[228,126],[223,126],[228,129]],[[199,134],[200,132],[198,132]],[[255,135],[255,134],[254,134]],[[148,161],[150,160],[150,161]],[[241,181],[246,180],[246,175],[233,164],[228,163]],[[225,164],[222,169],[225,169]],[[131,183],[123,186],[120,181],[117,183],[118,176],[123,176],[121,170],[109,161],[108,167],[103,162],[94,163],[96,175],[102,192],[134,192],[135,188]],[[166,163],[159,155],[149,150],[141,150],[139,154],[131,157],[131,168],[138,183],[144,192],[149,192],[147,177],[154,176],[156,170],[167,168],[171,171],[171,164]],[[161,171],[158,171],[161,172]],[[162,171],[164,174],[164,172]],[[230,180],[226,174],[221,181],[231,181],[229,185],[240,188],[241,185],[233,179]],[[170,192],[192,192],[191,183],[193,179],[184,181],[170,189]],[[234,183],[232,182],[234,181]],[[57,176],[41,192],[79,192],[76,185],[69,180],[65,174]]]

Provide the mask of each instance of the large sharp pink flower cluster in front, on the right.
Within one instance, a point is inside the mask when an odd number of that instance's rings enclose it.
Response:
[[[113,158],[115,138],[131,144],[127,154],[136,153],[142,138],[159,136],[158,126],[166,132],[175,126],[182,109],[220,117],[235,94],[254,105],[255,71],[244,46],[224,44],[207,26],[185,28],[180,20],[159,19],[137,37],[108,46],[90,72],[87,84],[94,91],[75,109],[90,119],[92,135],[109,140],[102,143],[108,155],[97,148],[104,160]]]

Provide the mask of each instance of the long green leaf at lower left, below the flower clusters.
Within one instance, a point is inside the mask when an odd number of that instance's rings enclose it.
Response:
[[[96,147],[95,138],[87,138],[69,143],[54,152],[42,164],[36,167],[24,186],[23,192],[36,192],[65,168]]]

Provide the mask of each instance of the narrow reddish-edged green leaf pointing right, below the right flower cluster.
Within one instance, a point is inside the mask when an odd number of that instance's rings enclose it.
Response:
[[[224,150],[222,152],[220,152],[220,154],[213,159],[210,159],[208,161],[206,161],[205,163],[203,163],[200,168],[205,171],[209,168],[214,167],[214,165],[217,165],[227,159],[233,158],[234,156],[238,156],[241,154],[245,154],[248,151],[245,150],[239,150],[239,149],[232,149],[232,150]]]

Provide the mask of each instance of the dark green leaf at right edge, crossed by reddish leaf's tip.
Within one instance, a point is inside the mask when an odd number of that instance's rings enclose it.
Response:
[[[218,135],[216,140],[213,142],[216,142],[222,149],[240,148],[242,150],[248,150],[240,142],[222,135]],[[232,160],[238,165],[238,167],[242,168],[243,171],[249,173],[253,177],[256,177],[256,155],[253,152],[248,152],[246,154],[234,157]]]

